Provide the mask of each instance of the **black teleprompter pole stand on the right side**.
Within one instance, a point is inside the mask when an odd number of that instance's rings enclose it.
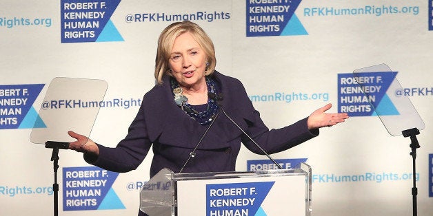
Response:
[[[405,131],[402,131],[401,133],[403,133],[403,136],[405,138],[410,137],[410,149],[412,149],[412,151],[410,152],[410,155],[412,155],[412,169],[413,169],[413,182],[414,182],[414,187],[412,188],[412,208],[413,208],[413,215],[416,216],[417,215],[417,210],[416,210],[416,195],[418,195],[418,188],[416,188],[416,149],[418,149],[419,147],[421,147],[418,143],[418,140],[416,139],[416,135],[419,134],[419,130],[416,128],[412,128],[412,129],[407,129]]]

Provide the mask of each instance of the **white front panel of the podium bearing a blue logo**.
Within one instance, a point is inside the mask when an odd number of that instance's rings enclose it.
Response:
[[[177,182],[177,215],[303,215],[305,175]]]

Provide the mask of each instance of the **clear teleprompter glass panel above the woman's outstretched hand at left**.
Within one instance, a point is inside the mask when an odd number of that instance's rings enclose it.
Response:
[[[107,88],[105,80],[54,78],[41,102],[30,142],[73,142],[68,131],[89,136]]]

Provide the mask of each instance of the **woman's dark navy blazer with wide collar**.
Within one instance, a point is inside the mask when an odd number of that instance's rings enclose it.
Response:
[[[268,129],[239,80],[219,72],[212,76],[221,87],[223,109],[267,153],[290,149],[319,135],[319,129],[308,130],[307,118],[281,129]],[[163,168],[177,173],[207,128],[208,125],[200,125],[176,105],[169,78],[165,76],[163,85],[156,85],[145,94],[128,135],[117,147],[98,144],[99,156],[85,154],[84,158],[108,171],[128,172],[137,169],[152,147],[150,177]],[[263,154],[220,111],[183,173],[235,171],[241,142],[250,151]]]

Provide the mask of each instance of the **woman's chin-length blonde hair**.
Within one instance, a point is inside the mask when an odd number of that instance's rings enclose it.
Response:
[[[163,75],[165,73],[170,75],[168,72],[168,60],[170,59],[174,39],[185,32],[190,32],[205,52],[206,61],[209,63],[208,67],[206,67],[205,76],[214,72],[217,59],[215,58],[214,43],[212,43],[208,34],[199,25],[191,21],[176,22],[168,25],[159,35],[157,56],[155,58],[155,79],[160,85],[163,83]]]

